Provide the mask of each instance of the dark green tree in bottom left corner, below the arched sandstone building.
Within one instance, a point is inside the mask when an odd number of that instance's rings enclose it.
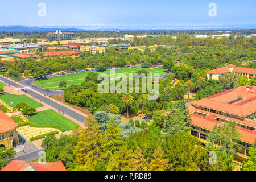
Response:
[[[5,149],[5,147],[0,147],[0,169],[10,163],[15,154],[14,148]]]

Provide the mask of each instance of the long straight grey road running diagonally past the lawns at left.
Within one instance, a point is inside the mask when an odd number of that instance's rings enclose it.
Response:
[[[16,82],[14,81],[10,81],[2,76],[0,76],[0,80],[6,82],[7,84],[10,84],[11,86],[14,86],[16,88],[21,88],[22,86],[16,84]],[[79,113],[77,113],[76,111],[69,109],[55,101],[50,100],[49,98],[47,98],[46,96],[42,96],[34,91],[31,90],[27,90],[27,94],[29,94],[32,97],[36,97],[38,100],[48,104],[49,106],[52,106],[53,108],[57,109],[57,110],[61,110],[62,112],[64,112],[64,114],[67,114],[69,117],[72,117],[74,119],[76,119],[77,121],[80,122],[84,122],[86,117],[84,115],[81,115]]]

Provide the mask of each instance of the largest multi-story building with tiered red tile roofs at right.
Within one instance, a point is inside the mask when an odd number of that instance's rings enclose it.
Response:
[[[191,117],[189,133],[200,142],[207,143],[207,135],[214,126],[228,121],[237,123],[241,133],[237,159],[246,159],[250,146],[256,144],[256,86],[241,86],[203,98],[188,105]]]

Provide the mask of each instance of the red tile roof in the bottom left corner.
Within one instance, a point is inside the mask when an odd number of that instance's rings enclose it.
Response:
[[[1,171],[67,171],[61,161],[46,163],[28,163],[22,160],[12,160]]]

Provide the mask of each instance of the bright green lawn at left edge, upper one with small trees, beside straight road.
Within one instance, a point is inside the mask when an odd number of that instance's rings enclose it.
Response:
[[[39,102],[32,100],[32,98],[30,98],[26,95],[7,94],[7,95],[0,96],[0,100],[5,102],[9,106],[13,105],[14,107],[17,104],[19,104],[20,102],[24,102],[27,105],[35,107],[35,108],[44,106],[44,105],[40,104]],[[13,104],[11,104],[11,102],[13,102]]]

